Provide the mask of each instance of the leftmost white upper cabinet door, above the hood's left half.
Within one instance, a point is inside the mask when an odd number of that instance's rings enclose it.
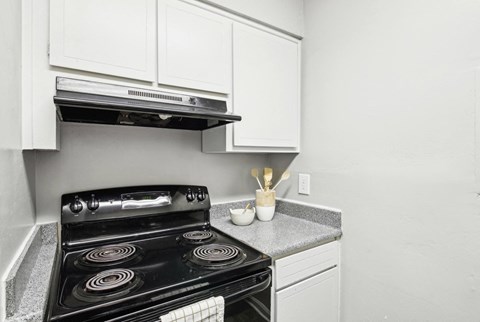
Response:
[[[50,64],[155,81],[155,0],[50,0]]]

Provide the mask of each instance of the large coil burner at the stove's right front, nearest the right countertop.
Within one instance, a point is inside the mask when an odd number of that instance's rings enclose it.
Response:
[[[210,244],[198,246],[187,255],[187,259],[208,269],[222,269],[241,264],[247,255],[233,245]]]

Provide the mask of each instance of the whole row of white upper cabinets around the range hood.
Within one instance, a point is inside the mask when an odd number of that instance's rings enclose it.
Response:
[[[242,121],[205,130],[203,152],[300,151],[301,40],[194,0],[25,2],[32,3],[33,13],[33,7],[45,7],[43,14],[28,17],[24,9],[25,31],[30,33],[24,32],[28,37],[24,35],[23,42],[34,49],[23,59],[26,69],[33,62],[24,77],[26,84],[33,79],[25,102],[30,95],[49,111],[48,122],[39,123],[36,115],[46,118],[46,112],[33,109],[33,104],[25,108],[24,114],[32,115],[25,118],[25,127],[32,129],[26,137],[33,138],[26,145],[57,147],[51,79],[59,74],[75,77],[80,70],[87,72],[82,76],[93,72],[226,99],[229,112]],[[37,56],[42,59],[34,59]],[[98,76],[103,77],[93,75]],[[40,137],[48,137],[50,143],[35,143]]]

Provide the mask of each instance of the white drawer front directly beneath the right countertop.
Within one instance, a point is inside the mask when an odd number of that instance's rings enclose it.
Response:
[[[338,241],[334,241],[276,260],[276,289],[280,290],[337,266],[338,257]]]

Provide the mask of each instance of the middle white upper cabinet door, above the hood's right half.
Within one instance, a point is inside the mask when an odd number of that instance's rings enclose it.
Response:
[[[186,3],[159,0],[158,81],[230,93],[232,22]]]

